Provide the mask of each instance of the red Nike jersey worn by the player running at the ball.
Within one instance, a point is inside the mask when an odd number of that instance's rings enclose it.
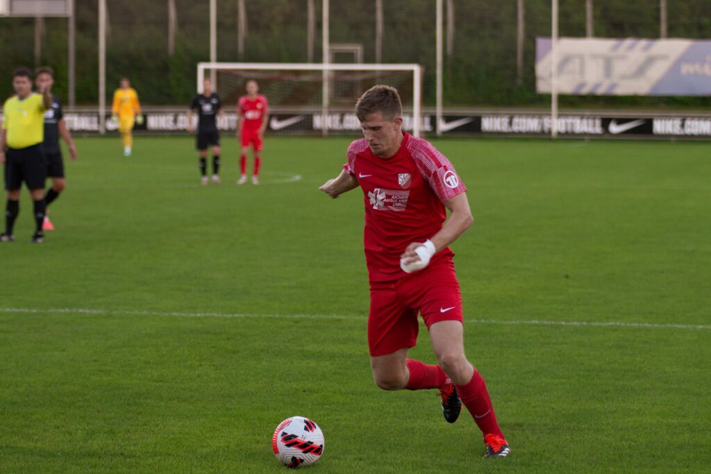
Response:
[[[466,191],[447,157],[429,141],[405,132],[390,158],[374,155],[365,139],[353,141],[343,169],[358,180],[365,198],[363,240],[370,281],[407,276],[400,255],[412,242],[437,234],[447,218],[444,202]],[[452,256],[447,247],[432,263]]]

